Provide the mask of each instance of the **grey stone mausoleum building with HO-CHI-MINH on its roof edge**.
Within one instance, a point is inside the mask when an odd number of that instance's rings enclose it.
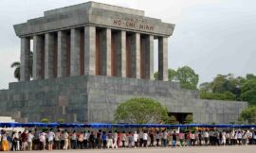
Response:
[[[246,102],[199,99],[198,91],[168,81],[174,25],[142,10],[87,2],[45,11],[14,29],[21,40],[20,81],[0,91],[0,115],[23,122],[113,122],[121,102],[150,97],[180,121],[192,114],[197,123],[229,123],[247,108]]]

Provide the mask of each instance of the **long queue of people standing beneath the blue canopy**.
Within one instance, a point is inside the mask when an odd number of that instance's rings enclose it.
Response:
[[[1,130],[2,151],[256,144],[256,130],[150,129],[138,131]]]

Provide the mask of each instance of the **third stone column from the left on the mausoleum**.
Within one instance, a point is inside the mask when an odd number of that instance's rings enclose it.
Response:
[[[53,50],[54,50],[54,36],[52,33],[47,33],[45,36],[45,78],[53,77]]]

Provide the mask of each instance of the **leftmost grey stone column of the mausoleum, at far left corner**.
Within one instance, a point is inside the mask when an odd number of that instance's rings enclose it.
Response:
[[[21,38],[20,81],[30,80],[30,38]]]

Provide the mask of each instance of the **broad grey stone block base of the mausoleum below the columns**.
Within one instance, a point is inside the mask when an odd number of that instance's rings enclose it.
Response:
[[[150,97],[169,112],[190,112],[196,123],[230,123],[247,108],[247,102],[203,100],[198,91],[178,83],[113,76],[70,76],[10,83],[0,91],[0,115],[9,113],[22,121],[113,122],[121,102]]]

